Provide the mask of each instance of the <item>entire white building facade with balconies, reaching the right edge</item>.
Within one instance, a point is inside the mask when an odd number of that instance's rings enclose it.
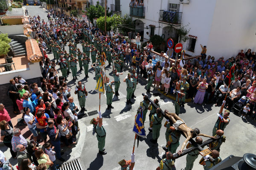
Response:
[[[183,48],[191,56],[201,53],[200,44],[215,58],[236,56],[241,49],[256,51],[256,0],[143,0],[144,7],[136,9],[129,8],[130,2],[107,0],[107,7],[121,16],[129,14],[143,41],[154,34],[177,41],[176,29],[188,25]]]

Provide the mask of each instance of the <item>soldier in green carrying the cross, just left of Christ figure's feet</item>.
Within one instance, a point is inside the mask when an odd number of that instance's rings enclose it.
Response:
[[[157,108],[157,113],[155,113],[150,120],[150,124],[152,126],[152,138],[150,139],[150,142],[152,143],[157,143],[157,139],[160,136],[160,129],[162,127],[162,120],[163,120],[163,116],[161,113],[161,109]]]

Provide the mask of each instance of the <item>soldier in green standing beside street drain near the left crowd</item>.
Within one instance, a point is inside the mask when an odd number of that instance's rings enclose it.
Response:
[[[87,98],[87,91],[84,85],[82,85],[82,82],[78,82],[78,86],[76,86],[75,94],[77,94],[79,105],[81,108],[81,111],[87,111],[85,107],[85,101]]]

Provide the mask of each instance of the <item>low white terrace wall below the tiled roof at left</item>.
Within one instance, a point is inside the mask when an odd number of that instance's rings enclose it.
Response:
[[[0,85],[9,83],[10,79],[13,79],[13,77],[18,75],[20,75],[23,79],[33,79],[36,77],[41,77],[42,74],[41,74],[39,62],[35,62],[35,63],[29,62],[29,68],[26,68],[26,69],[0,73],[0,79],[1,79]]]

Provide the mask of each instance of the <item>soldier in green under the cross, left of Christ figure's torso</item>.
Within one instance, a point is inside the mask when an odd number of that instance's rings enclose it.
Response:
[[[168,142],[166,144],[168,151],[176,153],[177,148],[180,145],[180,136],[181,133],[178,130],[175,130],[175,127],[171,126],[170,133],[168,136]]]

